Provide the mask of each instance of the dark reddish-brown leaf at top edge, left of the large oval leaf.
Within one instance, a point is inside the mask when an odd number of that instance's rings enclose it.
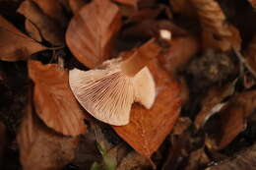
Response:
[[[67,24],[63,8],[58,0],[32,0],[45,15],[55,20],[64,27]]]

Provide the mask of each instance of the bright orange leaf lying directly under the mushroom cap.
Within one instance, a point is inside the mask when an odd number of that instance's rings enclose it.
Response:
[[[180,89],[173,78],[160,69],[157,60],[148,66],[157,87],[157,98],[153,107],[134,104],[130,123],[113,129],[125,142],[139,153],[150,157],[170,133],[179,116]]]

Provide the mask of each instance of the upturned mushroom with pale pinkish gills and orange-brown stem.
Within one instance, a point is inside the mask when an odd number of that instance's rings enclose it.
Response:
[[[156,87],[147,64],[160,49],[151,39],[124,61],[120,57],[107,60],[94,70],[71,70],[69,84],[75,97],[96,119],[115,126],[128,124],[133,102],[147,109],[154,104]]]

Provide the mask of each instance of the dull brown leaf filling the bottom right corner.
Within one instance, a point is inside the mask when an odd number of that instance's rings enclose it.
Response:
[[[255,169],[256,161],[256,144],[240,151],[230,159],[220,163],[215,163],[206,170],[253,170]]]

